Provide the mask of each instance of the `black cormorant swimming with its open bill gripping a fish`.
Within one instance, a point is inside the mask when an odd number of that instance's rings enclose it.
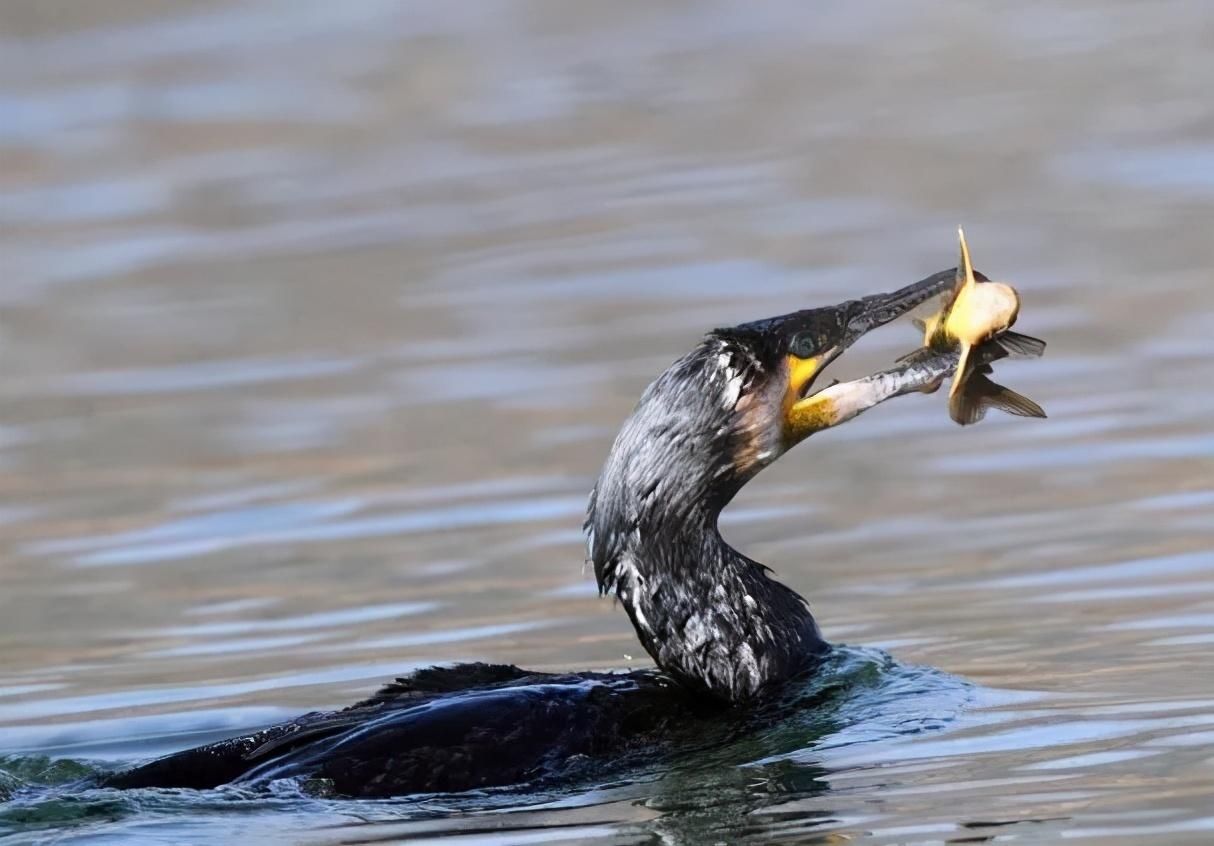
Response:
[[[346,796],[460,791],[561,777],[713,743],[787,702],[830,647],[805,601],[732,549],[717,516],[793,445],[938,382],[955,352],[816,390],[869,330],[952,288],[894,294],[709,333],[641,396],[590,495],[589,561],[656,670],[431,668],[370,699],[112,774],[113,788],[324,779]],[[785,705],[787,706],[787,705]]]

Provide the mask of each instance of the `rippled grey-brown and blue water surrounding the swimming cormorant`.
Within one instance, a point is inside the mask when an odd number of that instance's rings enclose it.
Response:
[[[709,327],[949,266],[957,223],[1050,341],[1000,370],[1050,420],[910,397],[731,507],[828,637],[897,662],[847,653],[830,725],[563,793],[19,791],[0,842],[1208,842],[1212,28],[1179,0],[5,4],[23,779],[435,662],[643,665],[578,532],[641,388]]]

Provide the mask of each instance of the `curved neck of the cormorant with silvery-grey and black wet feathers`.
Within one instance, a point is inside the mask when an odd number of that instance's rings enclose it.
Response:
[[[760,695],[828,648],[805,601],[716,528],[783,448],[762,413],[782,396],[783,379],[747,345],[710,335],[641,394],[586,512],[600,590],[619,597],[660,669],[726,702]]]

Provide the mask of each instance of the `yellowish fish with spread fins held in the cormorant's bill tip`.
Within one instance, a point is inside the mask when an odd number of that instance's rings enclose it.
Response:
[[[1023,418],[1044,418],[1045,410],[1028,397],[991,379],[992,363],[1000,358],[1039,358],[1045,341],[1011,331],[1020,314],[1020,294],[1006,283],[992,282],[974,271],[965,231],[958,227],[960,259],[957,284],[941,310],[926,320],[915,320],[924,346],[898,360],[925,360],[930,353],[959,348],[953,382],[948,390],[948,414],[968,426],[986,416],[991,408]],[[943,377],[924,385],[924,393],[937,391]]]

